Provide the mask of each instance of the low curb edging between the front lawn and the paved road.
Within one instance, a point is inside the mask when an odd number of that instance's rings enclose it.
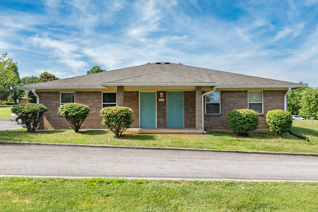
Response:
[[[262,155],[293,155],[293,156],[318,157],[318,154],[314,154],[314,153],[177,148],[177,147],[157,147],[157,146],[155,146],[155,147],[153,147],[153,146],[124,146],[124,145],[104,145],[104,144],[45,143],[45,142],[17,142],[17,141],[0,141],[0,144],[4,144],[4,145],[72,146],[72,147],[94,147],[94,148],[116,148],[116,149],[150,149],[150,150],[174,150],[174,151],[221,152],[221,153],[244,153],[244,154],[262,154]]]

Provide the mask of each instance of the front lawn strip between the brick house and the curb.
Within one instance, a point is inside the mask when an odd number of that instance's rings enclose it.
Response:
[[[273,152],[318,153],[318,131],[293,127],[293,132],[306,136],[310,141],[298,139],[289,133],[282,137],[275,133],[250,133],[249,137],[238,137],[230,132],[210,132],[215,135],[158,135],[124,134],[114,138],[114,134],[105,131],[0,131],[0,141],[27,141],[51,143],[85,143],[108,145],[161,146],[185,148],[209,148]]]

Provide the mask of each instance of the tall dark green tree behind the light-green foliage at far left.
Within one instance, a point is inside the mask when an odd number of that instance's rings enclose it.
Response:
[[[23,90],[17,89],[18,86],[22,85],[17,63],[11,62],[6,69],[7,71],[13,72],[13,75],[10,77],[6,87],[9,89],[10,99],[14,100],[14,104],[17,104],[17,99],[21,99],[21,97],[25,94]]]

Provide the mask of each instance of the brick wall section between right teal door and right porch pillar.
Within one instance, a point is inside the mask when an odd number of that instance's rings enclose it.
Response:
[[[184,92],[184,128],[195,128],[195,91]]]

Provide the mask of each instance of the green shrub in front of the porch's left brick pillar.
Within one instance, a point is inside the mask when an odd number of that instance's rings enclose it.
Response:
[[[102,124],[107,125],[108,129],[118,138],[132,125],[133,112],[129,107],[105,107],[100,111],[103,117]]]

